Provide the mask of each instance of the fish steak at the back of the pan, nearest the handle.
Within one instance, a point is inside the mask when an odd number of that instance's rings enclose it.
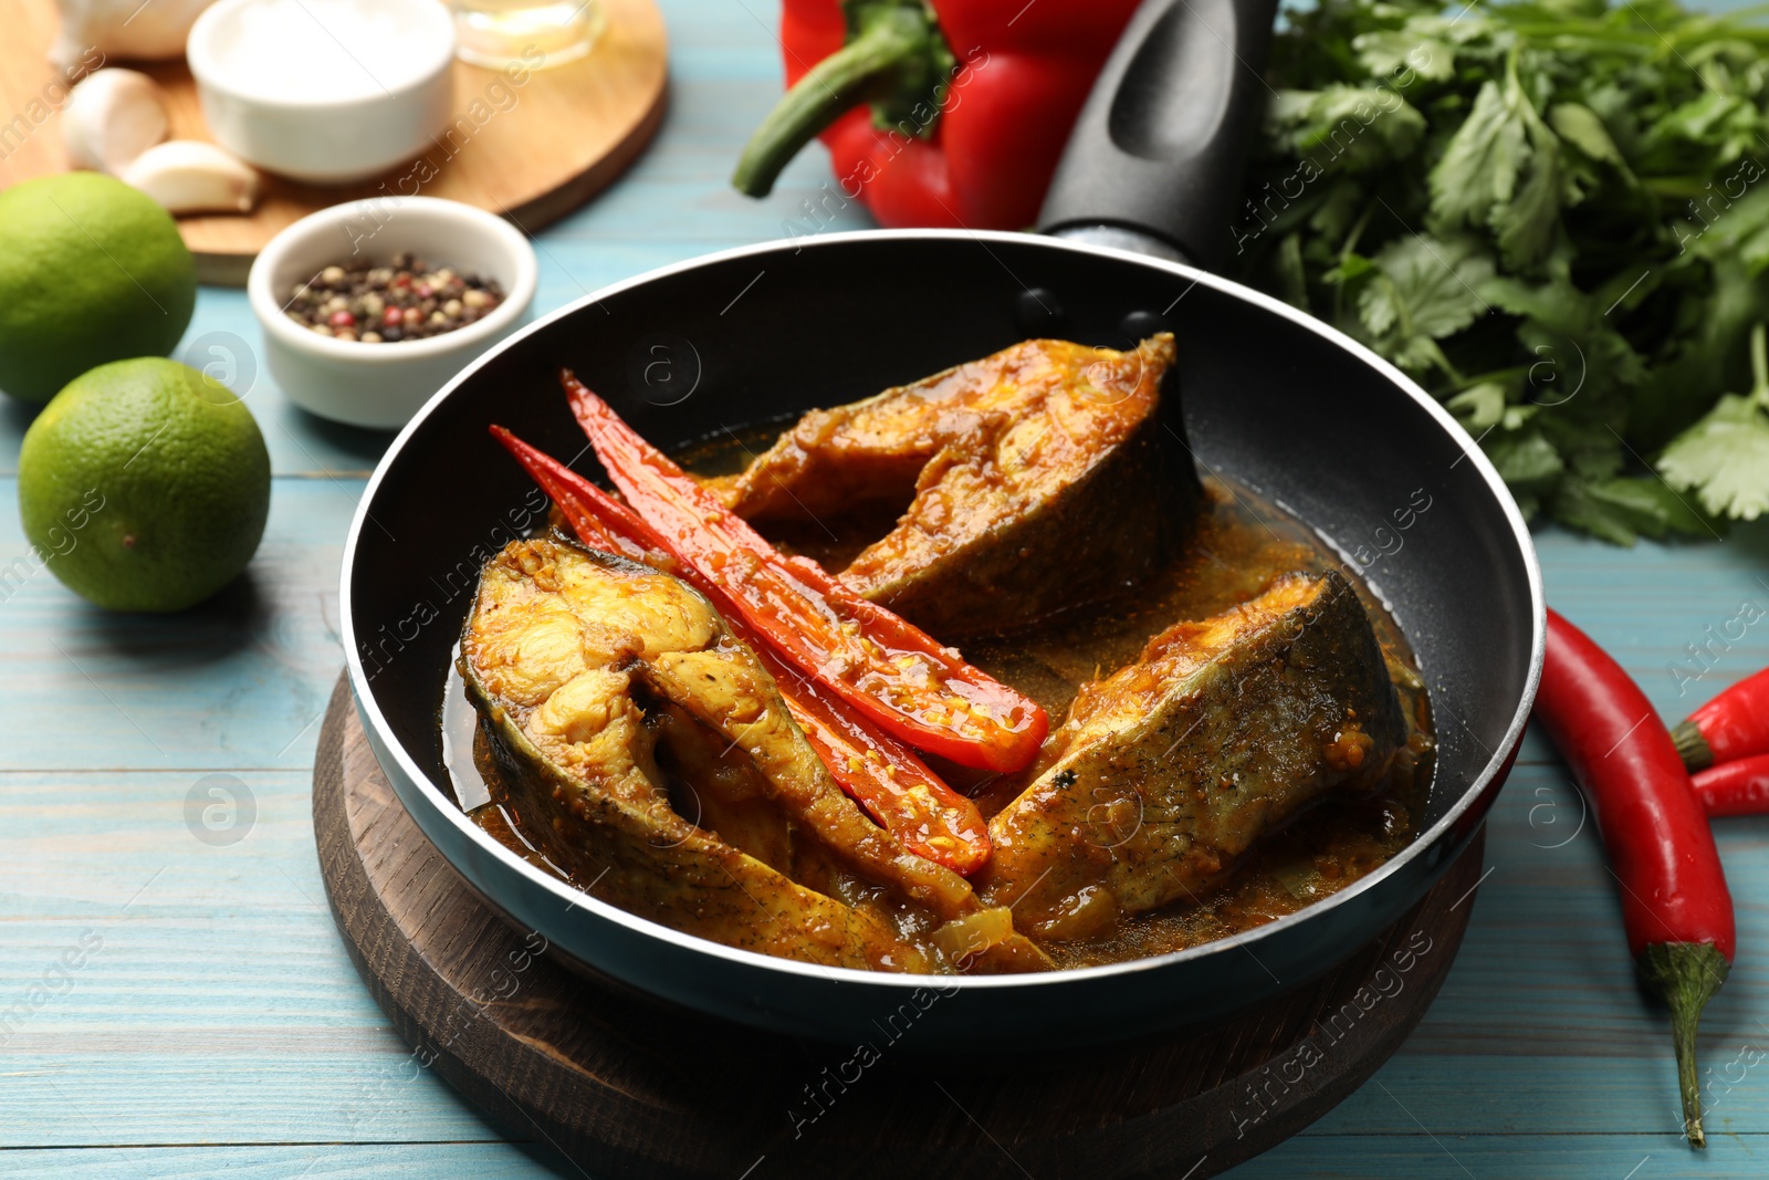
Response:
[[[913,495],[842,580],[934,635],[1019,626],[1134,586],[1189,536],[1201,487],[1178,407],[1160,409],[1173,361],[1168,333],[1129,352],[1028,340],[812,410],[713,487],[757,524]]]

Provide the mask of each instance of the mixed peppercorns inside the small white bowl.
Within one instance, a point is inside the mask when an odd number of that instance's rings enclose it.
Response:
[[[490,315],[504,301],[495,278],[430,269],[409,253],[375,265],[329,265],[288,292],[283,311],[295,324],[366,345],[440,336]]]

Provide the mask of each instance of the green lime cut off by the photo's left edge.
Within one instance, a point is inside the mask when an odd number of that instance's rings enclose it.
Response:
[[[0,389],[48,402],[94,364],[166,356],[196,306],[196,264],[165,209],[69,172],[0,193]]]

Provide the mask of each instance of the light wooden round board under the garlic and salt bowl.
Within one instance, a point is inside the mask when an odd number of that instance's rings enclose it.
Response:
[[[557,221],[609,186],[663,122],[667,48],[655,0],[600,0],[607,30],[589,55],[529,71],[455,62],[455,124],[419,157],[341,188],[264,173],[257,211],[179,219],[203,283],[241,287],[251,260],[283,226],[364,196],[421,195],[504,214],[527,232]],[[55,0],[5,0],[0,35],[0,188],[67,172],[60,108],[65,78],[48,50]],[[166,92],[172,138],[207,140],[196,83],[182,60],[108,62],[150,74]],[[23,133],[21,133],[23,129]]]

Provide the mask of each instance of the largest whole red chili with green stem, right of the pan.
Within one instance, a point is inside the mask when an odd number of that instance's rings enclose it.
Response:
[[[1707,816],[1640,686],[1576,626],[1548,612],[1535,716],[1585,791],[1622,890],[1627,946],[1670,1007],[1691,1146],[1705,1146],[1695,1031],[1732,966],[1732,893]]]

